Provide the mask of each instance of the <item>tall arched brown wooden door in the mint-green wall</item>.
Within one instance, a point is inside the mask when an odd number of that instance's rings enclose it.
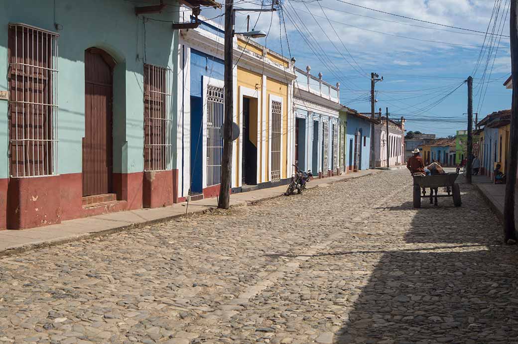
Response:
[[[112,192],[113,66],[105,51],[85,50],[83,196]]]

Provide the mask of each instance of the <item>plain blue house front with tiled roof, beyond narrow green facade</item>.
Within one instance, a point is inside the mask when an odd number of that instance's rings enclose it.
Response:
[[[369,169],[371,120],[357,112],[347,113],[346,160],[348,170]]]

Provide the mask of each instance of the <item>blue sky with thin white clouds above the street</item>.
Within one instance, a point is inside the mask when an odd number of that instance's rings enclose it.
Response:
[[[235,1],[236,7],[261,4],[260,0]],[[321,71],[324,80],[340,82],[341,103],[361,112],[370,111],[370,72],[378,73],[384,81],[376,84],[376,109],[385,112],[389,107],[393,118],[406,117],[407,131],[443,137],[465,130],[467,85],[462,82],[469,75],[473,76],[473,112],[479,112],[479,119],[511,107],[511,90],[502,85],[511,70],[508,37],[490,39],[492,36],[478,32],[351,5],[484,33],[490,25],[490,32],[508,36],[509,0],[347,2],[350,4],[340,0],[283,0],[285,28],[281,11],[273,15],[264,12],[258,19],[257,12],[250,12],[238,13],[236,31],[246,29],[246,15],[250,14],[251,27],[257,22],[256,29],[269,29],[267,38],[257,41],[290,56],[287,33],[296,65],[303,69],[310,65],[312,74]],[[204,9],[202,14],[214,17],[219,13]],[[215,21],[220,19],[223,24],[222,18]]]

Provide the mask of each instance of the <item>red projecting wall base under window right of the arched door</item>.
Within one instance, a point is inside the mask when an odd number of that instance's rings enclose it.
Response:
[[[142,206],[144,208],[166,207],[172,204],[173,198],[172,171],[146,171],[142,190]]]

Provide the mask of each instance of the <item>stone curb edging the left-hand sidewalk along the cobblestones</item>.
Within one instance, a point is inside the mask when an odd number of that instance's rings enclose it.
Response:
[[[329,181],[328,184],[335,184],[335,183],[338,183],[338,182],[344,182],[344,181],[351,180],[351,179],[357,179],[357,178],[372,176],[372,175],[375,175],[375,174],[378,174],[378,173],[379,173],[379,171],[371,171],[370,173],[362,175],[362,176],[355,176],[355,177],[351,177],[351,178],[347,178],[347,179],[340,179],[340,180]],[[316,188],[316,187],[312,187],[311,189],[313,189],[313,188]],[[309,189],[309,190],[311,190],[311,189]],[[271,196],[271,197],[265,197],[265,198],[253,200],[253,201],[247,201],[247,200],[238,201],[237,204],[231,205],[229,207],[229,209],[236,208],[236,207],[243,206],[243,205],[257,204],[257,203],[260,203],[260,202],[264,202],[266,200],[275,199],[275,198],[282,197],[282,196],[284,196],[284,193],[281,193],[281,194],[275,195],[275,196]],[[146,226],[150,226],[150,225],[154,225],[154,224],[160,224],[160,223],[164,223],[164,222],[167,222],[167,221],[170,221],[170,220],[186,217],[187,215],[205,214],[205,213],[210,212],[210,211],[212,211],[214,209],[217,209],[217,207],[208,207],[207,209],[192,211],[192,212],[189,212],[188,214],[171,215],[171,216],[168,216],[168,217],[164,217],[164,218],[160,218],[160,219],[154,219],[154,220],[149,220],[149,221],[145,221],[145,222],[141,222],[141,223],[131,223],[131,224],[127,224],[127,225],[124,225],[124,226],[109,228],[108,230],[103,230],[103,231],[99,231],[99,232],[91,232],[91,233],[79,234],[79,235],[74,235],[74,236],[70,236],[70,237],[66,237],[66,238],[53,239],[53,240],[43,241],[43,242],[28,243],[28,244],[24,244],[22,246],[12,247],[12,248],[8,248],[6,250],[0,251],[0,257],[6,257],[6,256],[14,255],[14,254],[24,253],[24,252],[27,252],[27,251],[47,248],[47,247],[51,247],[51,246],[62,245],[63,243],[69,243],[69,242],[80,241],[80,240],[87,240],[87,239],[92,239],[92,238],[96,238],[96,237],[107,236],[107,235],[114,234],[114,233],[131,231],[131,230],[135,230],[135,229],[138,229],[138,228],[143,228],[143,227],[146,227]]]

